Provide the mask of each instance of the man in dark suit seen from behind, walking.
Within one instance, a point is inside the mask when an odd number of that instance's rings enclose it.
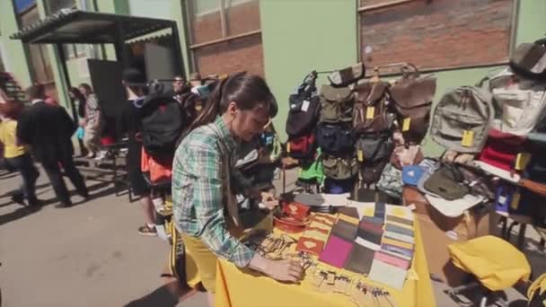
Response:
[[[17,125],[19,142],[31,145],[31,152],[48,174],[61,207],[72,206],[72,201],[62,178],[62,167],[72,181],[78,194],[89,196],[84,178],[75,168],[71,136],[76,125],[62,107],[48,105],[44,101],[44,92],[40,86],[32,85],[25,90],[32,106],[22,112]]]

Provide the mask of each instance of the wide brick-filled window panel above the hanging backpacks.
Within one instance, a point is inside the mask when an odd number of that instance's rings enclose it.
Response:
[[[362,13],[361,52],[373,48],[370,66],[405,61],[437,68],[505,61],[512,1],[416,1]]]

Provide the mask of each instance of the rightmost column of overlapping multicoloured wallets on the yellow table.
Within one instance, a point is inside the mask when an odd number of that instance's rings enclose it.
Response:
[[[413,259],[413,229],[413,215],[409,208],[388,208],[383,238],[379,249],[374,252],[370,279],[396,289],[403,287]]]

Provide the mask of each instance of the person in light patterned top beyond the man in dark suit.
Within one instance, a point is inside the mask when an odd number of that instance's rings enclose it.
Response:
[[[93,158],[101,142],[101,108],[89,84],[81,83],[78,88],[85,97],[84,145],[89,151],[87,158]]]

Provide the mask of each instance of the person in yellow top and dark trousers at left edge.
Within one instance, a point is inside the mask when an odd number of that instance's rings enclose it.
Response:
[[[6,101],[0,104],[0,142],[4,144],[4,158],[6,164],[13,170],[19,171],[22,177],[22,186],[12,196],[13,202],[24,205],[26,198],[28,206],[38,207],[36,197],[36,180],[40,172],[34,166],[28,148],[19,145],[17,141],[17,119],[22,112],[22,102]]]

